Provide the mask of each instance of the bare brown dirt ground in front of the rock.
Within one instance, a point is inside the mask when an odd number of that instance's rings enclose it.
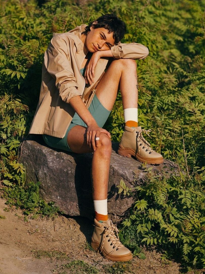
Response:
[[[29,219],[24,222],[22,210],[12,208],[5,212],[6,207],[5,200],[0,199],[0,215],[6,217],[0,219],[0,274],[108,273],[106,267],[113,266],[114,262],[89,249],[87,242],[93,231],[93,222],[89,219],[59,216],[54,221]],[[45,252],[56,252],[56,256],[52,253],[52,257],[36,257]],[[64,256],[58,258],[58,252],[64,252]],[[160,254],[155,250],[144,252],[146,259],[135,257],[130,263],[124,263],[127,268],[124,273],[179,273],[177,263],[162,265]],[[60,266],[73,260],[84,261],[96,270],[80,272],[66,268],[61,272]]]

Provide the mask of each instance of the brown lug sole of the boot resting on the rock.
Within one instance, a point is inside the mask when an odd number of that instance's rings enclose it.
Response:
[[[127,157],[127,158],[131,158],[131,156],[134,156],[139,162],[141,162],[141,163],[146,162],[147,164],[151,164],[151,165],[159,165],[159,164],[162,164],[164,161],[163,157],[146,158],[146,157],[140,156],[138,153],[136,154],[133,149],[128,148],[128,147],[123,147],[123,145],[121,145],[121,144],[119,144],[117,153],[120,156]]]

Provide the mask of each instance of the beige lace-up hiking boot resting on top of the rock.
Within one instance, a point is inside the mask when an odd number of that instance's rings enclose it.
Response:
[[[163,163],[162,155],[151,149],[150,144],[142,136],[142,133],[145,133],[150,137],[148,134],[150,131],[151,129],[145,130],[141,127],[133,129],[125,125],[125,131],[118,147],[118,154],[128,158],[133,155],[141,163],[146,162],[153,165]]]

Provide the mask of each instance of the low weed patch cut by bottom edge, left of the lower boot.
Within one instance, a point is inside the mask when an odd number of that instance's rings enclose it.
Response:
[[[67,274],[67,273],[76,273],[76,274],[98,274],[98,270],[91,266],[90,264],[87,264],[84,261],[71,261],[68,264],[63,264],[62,266],[58,267],[58,269],[54,269],[53,273],[57,274]]]

